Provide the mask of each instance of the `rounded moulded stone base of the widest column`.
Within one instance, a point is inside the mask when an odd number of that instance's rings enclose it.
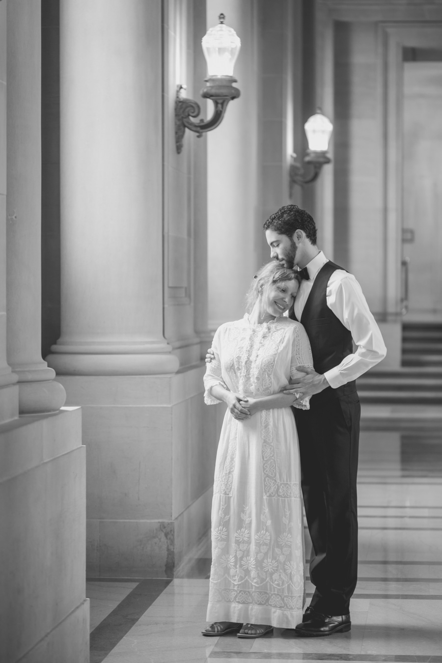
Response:
[[[164,375],[180,367],[172,353],[79,354],[58,353],[55,348],[46,361],[58,375]]]

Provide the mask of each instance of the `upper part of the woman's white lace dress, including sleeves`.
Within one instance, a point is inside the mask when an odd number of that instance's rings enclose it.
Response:
[[[296,377],[297,366],[313,367],[304,327],[284,316],[258,325],[251,325],[247,314],[227,322],[215,332],[212,349],[215,359],[207,364],[204,376],[207,404],[219,402],[211,395],[213,385],[245,396],[268,396]]]

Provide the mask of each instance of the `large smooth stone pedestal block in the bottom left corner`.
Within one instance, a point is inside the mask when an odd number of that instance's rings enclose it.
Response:
[[[79,408],[0,426],[0,660],[87,663]]]

